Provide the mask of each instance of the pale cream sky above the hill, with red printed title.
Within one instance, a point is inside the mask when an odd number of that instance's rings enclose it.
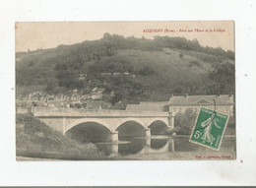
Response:
[[[233,22],[20,22],[15,25],[16,52],[54,48],[102,38],[105,32],[135,37],[156,35],[198,39],[201,45],[234,51]]]

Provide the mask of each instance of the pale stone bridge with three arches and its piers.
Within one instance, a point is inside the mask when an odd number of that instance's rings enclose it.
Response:
[[[61,132],[63,135],[73,127],[87,122],[100,124],[108,129],[109,141],[118,140],[118,127],[125,122],[134,121],[145,129],[145,136],[151,136],[150,125],[161,121],[166,126],[174,127],[174,116],[163,111],[126,111],[126,110],[85,110],[78,108],[36,107],[31,113],[40,121]]]

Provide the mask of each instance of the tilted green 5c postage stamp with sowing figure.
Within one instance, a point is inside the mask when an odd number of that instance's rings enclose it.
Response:
[[[219,151],[228,115],[201,107],[190,142]]]

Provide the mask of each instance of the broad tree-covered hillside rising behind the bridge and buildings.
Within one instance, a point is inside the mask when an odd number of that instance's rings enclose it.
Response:
[[[234,53],[196,39],[105,33],[99,40],[17,53],[16,82],[17,94],[103,88],[103,100],[112,104],[167,100],[169,94],[234,94]]]

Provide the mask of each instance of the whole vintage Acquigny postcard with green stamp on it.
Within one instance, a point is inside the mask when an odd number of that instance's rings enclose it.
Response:
[[[17,160],[235,159],[232,21],[15,34]]]

